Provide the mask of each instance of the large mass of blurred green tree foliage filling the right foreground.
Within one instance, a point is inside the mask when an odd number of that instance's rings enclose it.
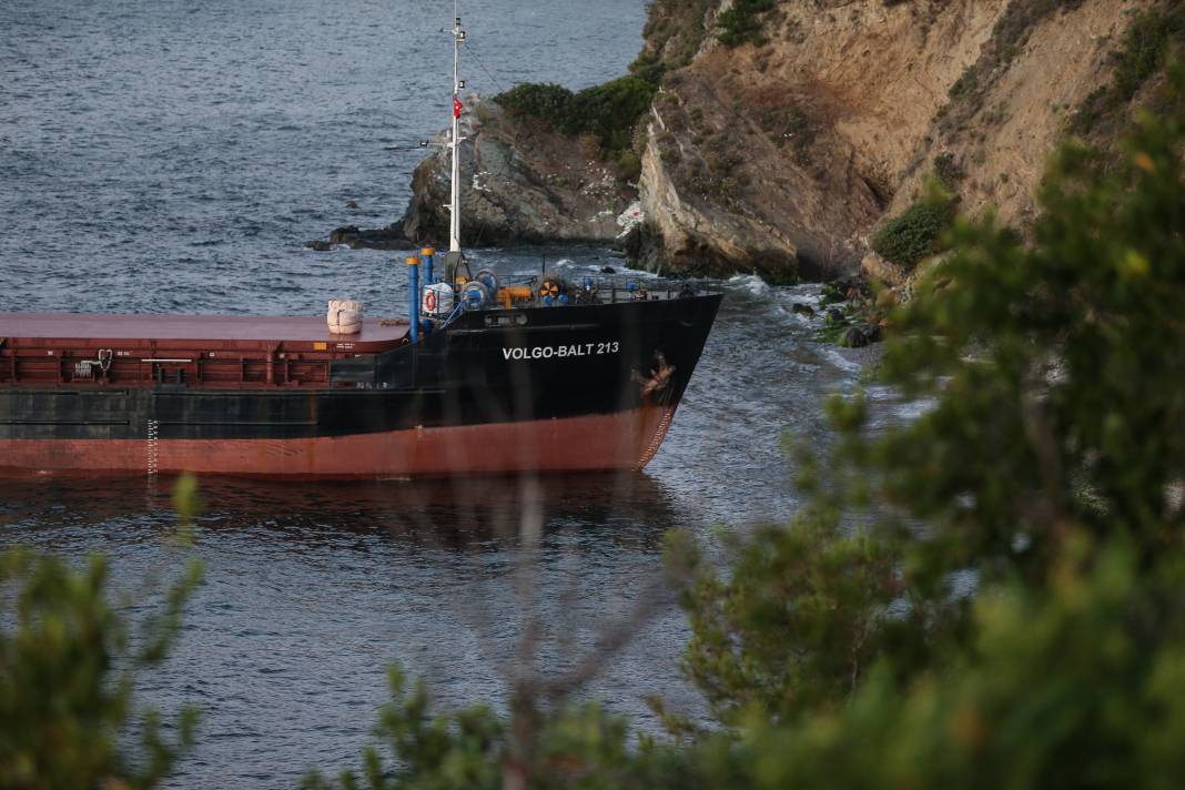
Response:
[[[876,374],[924,413],[872,431],[867,402],[837,399],[840,439],[822,462],[800,455],[809,505],[789,528],[821,531],[815,552],[762,529],[726,580],[692,564],[710,582],[688,602],[687,663],[711,669],[692,677],[710,699],[755,702],[741,745],[716,749],[763,767],[731,783],[1180,776],[1183,154],[1180,117],[1144,117],[1117,162],[1059,152],[1032,244],[991,217],[957,221],[950,255],[893,316]],[[861,554],[838,577],[820,572],[852,541]],[[897,584],[865,584],[866,557],[891,558]],[[771,616],[755,628],[752,612]],[[875,659],[851,691],[834,657],[870,637],[837,623],[875,624]],[[816,663],[767,685],[782,693],[754,694],[732,659],[760,669],[779,651]]]

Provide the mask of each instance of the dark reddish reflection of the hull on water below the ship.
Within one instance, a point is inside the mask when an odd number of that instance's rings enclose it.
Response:
[[[114,526],[123,540],[139,542],[133,539],[139,535],[156,541],[175,532],[175,480],[0,480],[0,528],[19,527],[24,540],[34,544],[39,534],[52,533],[56,548],[63,540],[89,542],[88,535]],[[299,484],[204,477],[199,503],[201,538],[250,532],[318,547],[351,537],[383,537],[386,544],[423,548],[512,550],[529,545],[536,533],[544,538],[557,529],[577,529],[597,540],[627,539],[635,547],[649,545],[636,541],[653,533],[647,540],[658,547],[662,532],[675,522],[670,497],[642,473]],[[63,534],[70,527],[78,534]]]

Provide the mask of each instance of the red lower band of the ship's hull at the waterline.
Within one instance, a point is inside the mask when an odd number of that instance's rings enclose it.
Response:
[[[0,439],[0,474],[447,477],[641,469],[673,406],[526,423],[417,428],[300,439]]]

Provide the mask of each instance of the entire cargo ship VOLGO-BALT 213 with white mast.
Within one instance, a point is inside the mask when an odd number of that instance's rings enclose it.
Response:
[[[449,250],[406,258],[409,317],[0,314],[0,474],[444,477],[641,469],[722,295],[461,250],[454,20]],[[440,276],[437,276],[437,274]]]

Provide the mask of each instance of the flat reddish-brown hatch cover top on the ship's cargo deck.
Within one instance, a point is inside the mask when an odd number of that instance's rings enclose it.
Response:
[[[378,353],[402,345],[406,321],[364,319],[361,332],[331,334],[325,316],[101,315],[82,313],[0,313],[0,345],[107,348],[185,346],[188,348],[297,349],[350,345],[353,353]]]

